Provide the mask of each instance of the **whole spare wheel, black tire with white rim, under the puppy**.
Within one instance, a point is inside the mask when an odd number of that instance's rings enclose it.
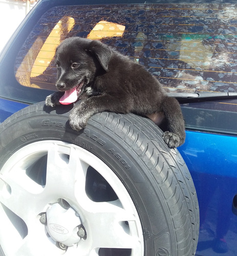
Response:
[[[2,254],[195,255],[196,190],[159,127],[103,112],[75,132],[72,107],[40,102],[0,126]]]

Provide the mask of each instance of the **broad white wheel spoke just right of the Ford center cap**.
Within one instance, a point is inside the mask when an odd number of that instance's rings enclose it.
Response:
[[[114,203],[93,202],[90,205],[92,208],[86,216],[91,228],[88,238],[93,248],[135,248],[138,245],[138,237],[132,235],[125,224],[136,221],[133,214]]]

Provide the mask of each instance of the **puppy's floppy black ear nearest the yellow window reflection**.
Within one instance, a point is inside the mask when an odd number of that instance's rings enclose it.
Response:
[[[98,40],[93,40],[88,50],[96,56],[102,68],[105,71],[108,71],[109,62],[112,56],[111,49],[102,42]]]

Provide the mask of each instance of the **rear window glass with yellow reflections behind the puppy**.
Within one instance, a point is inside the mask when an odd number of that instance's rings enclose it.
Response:
[[[54,53],[72,36],[99,39],[153,73],[167,92],[233,92],[237,5],[63,6],[47,11],[15,61],[21,86],[55,90]]]

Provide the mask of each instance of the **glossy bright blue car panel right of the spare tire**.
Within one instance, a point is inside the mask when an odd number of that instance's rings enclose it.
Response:
[[[195,183],[200,207],[196,255],[237,255],[237,137],[187,131],[179,147]]]

